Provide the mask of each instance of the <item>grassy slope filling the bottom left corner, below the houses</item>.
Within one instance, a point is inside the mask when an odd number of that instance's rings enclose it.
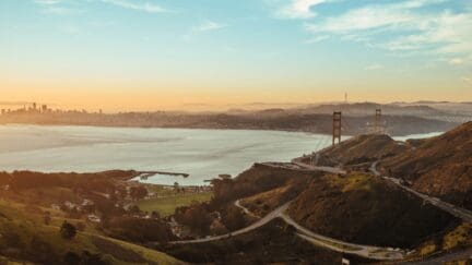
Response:
[[[21,210],[20,206],[0,201],[0,256],[4,261],[67,264],[68,253],[83,255],[86,251],[91,255],[99,253],[110,264],[184,264],[164,253],[103,237],[90,229],[71,240],[63,239],[57,222],[45,225],[43,216]]]

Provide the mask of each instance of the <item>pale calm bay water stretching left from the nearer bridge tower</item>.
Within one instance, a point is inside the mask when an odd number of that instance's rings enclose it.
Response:
[[[0,125],[0,170],[160,170],[148,182],[203,184],[255,161],[290,161],[331,144],[321,134],[246,130]]]

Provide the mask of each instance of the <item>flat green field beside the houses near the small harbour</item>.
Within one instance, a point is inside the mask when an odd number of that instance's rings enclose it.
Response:
[[[145,212],[157,212],[161,216],[168,216],[174,214],[175,208],[180,206],[187,206],[192,202],[206,202],[212,197],[212,192],[200,192],[200,193],[175,193],[170,196],[156,197],[150,200],[142,200],[137,203],[141,210]]]

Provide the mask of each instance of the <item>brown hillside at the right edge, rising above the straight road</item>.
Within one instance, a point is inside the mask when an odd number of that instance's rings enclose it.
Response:
[[[472,122],[386,159],[381,167],[421,192],[472,208]]]

